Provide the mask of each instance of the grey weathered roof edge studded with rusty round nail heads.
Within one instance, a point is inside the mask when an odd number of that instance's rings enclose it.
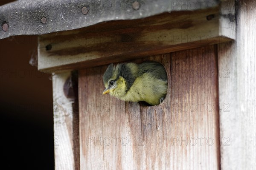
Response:
[[[66,31],[111,20],[132,20],[170,11],[195,11],[217,6],[219,0],[41,0],[40,3],[23,0],[22,2],[11,2],[0,6],[1,26],[8,23],[3,30],[0,29],[0,39],[14,35]]]

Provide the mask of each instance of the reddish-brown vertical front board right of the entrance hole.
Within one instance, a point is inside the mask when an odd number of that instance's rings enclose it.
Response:
[[[183,140],[185,137],[191,139],[191,144],[187,147],[171,147],[172,154],[179,155],[172,157],[172,162],[178,161],[180,157],[186,161],[172,169],[220,169],[215,49],[212,45],[172,54],[171,96],[172,105],[175,105],[172,112],[172,130]],[[176,108],[177,103],[179,108]],[[188,111],[184,112],[182,107],[186,105]],[[183,111],[180,113],[180,110]],[[195,146],[194,139],[197,139]]]

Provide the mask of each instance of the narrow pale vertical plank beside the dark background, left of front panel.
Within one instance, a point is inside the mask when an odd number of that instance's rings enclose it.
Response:
[[[71,72],[52,77],[56,170],[80,169],[78,89],[74,81]]]

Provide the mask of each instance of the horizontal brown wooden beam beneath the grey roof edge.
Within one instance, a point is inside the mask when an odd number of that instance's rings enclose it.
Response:
[[[226,12],[226,13],[225,13]],[[99,23],[39,36],[38,69],[88,68],[235,39],[234,20],[221,7]],[[223,23],[224,22],[224,23]]]

